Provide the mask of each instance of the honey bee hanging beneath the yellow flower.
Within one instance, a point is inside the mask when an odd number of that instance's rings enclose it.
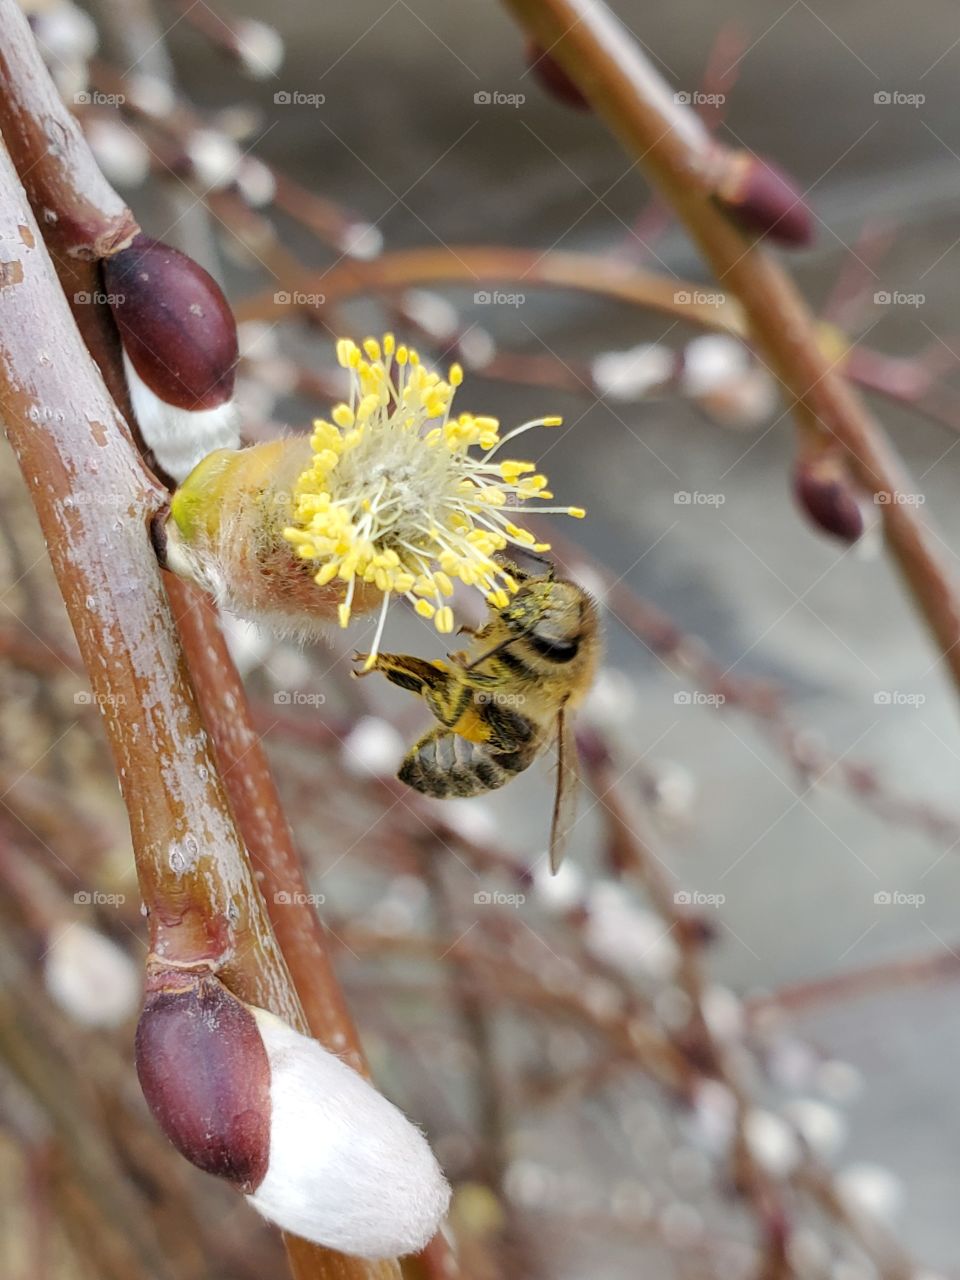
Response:
[[[557,744],[557,791],[550,828],[556,873],[576,815],[579,760],[571,712],[582,701],[600,657],[596,605],[553,567],[530,575],[503,608],[490,607],[467,652],[430,662],[379,653],[379,671],[419,694],[436,724],[407,751],[397,777],[429,796],[476,796],[522,773]],[[366,654],[355,654],[357,660]],[[366,672],[364,672],[366,675]]]

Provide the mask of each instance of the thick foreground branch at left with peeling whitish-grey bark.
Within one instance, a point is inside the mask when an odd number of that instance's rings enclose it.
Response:
[[[152,948],[216,968],[241,998],[303,1027],[147,536],[166,493],[88,358],[5,150],[0,191],[0,406],[102,712]],[[118,502],[105,507],[105,492]],[[398,1275],[396,1263],[289,1244],[302,1277]]]

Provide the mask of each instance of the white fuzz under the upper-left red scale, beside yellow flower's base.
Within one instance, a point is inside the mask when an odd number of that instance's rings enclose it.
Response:
[[[178,408],[161,401],[147,387],[125,352],[123,370],[143,443],[178,484],[214,449],[239,448],[238,413],[233,401],[216,408]]]

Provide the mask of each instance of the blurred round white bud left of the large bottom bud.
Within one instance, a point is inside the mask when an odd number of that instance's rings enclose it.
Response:
[[[60,1009],[84,1027],[119,1027],[140,1005],[136,964],[86,924],[69,924],[52,938],[44,957],[44,982]]]

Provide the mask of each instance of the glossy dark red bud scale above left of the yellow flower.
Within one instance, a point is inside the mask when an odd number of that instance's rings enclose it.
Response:
[[[237,323],[212,275],[142,234],[102,266],[123,349],[146,385],[177,408],[216,408],[229,401]]]

